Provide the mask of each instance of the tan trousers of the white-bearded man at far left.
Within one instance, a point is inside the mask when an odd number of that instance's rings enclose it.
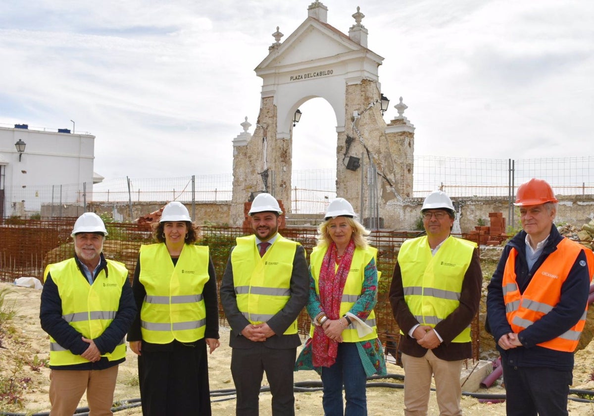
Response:
[[[105,370],[52,370],[49,376],[50,416],[72,416],[87,390],[89,416],[110,416],[118,365]]]

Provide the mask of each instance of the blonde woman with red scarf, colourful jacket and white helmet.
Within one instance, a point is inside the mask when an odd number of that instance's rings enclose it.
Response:
[[[307,311],[312,325],[295,370],[316,370],[328,415],[366,415],[366,377],[386,374],[377,338],[377,249],[345,198],[330,202],[309,261]]]

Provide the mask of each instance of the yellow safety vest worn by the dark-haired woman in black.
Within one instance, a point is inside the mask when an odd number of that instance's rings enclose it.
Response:
[[[143,340],[150,343],[194,342],[204,338],[208,247],[184,244],[173,261],[164,243],[140,247],[140,283],[146,297],[140,310]]]

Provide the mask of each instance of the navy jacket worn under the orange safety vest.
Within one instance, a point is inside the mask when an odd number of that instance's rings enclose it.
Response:
[[[495,344],[497,344],[501,336],[513,332],[507,322],[507,317],[505,317],[503,288],[501,287],[505,262],[511,248],[516,248],[518,252],[516,257],[516,281],[520,293],[523,293],[536,270],[549,254],[557,250],[557,245],[563,238],[553,224],[542,254],[531,270],[528,270],[526,261],[525,231],[520,231],[505,245],[497,269],[489,283],[486,297],[487,320],[490,332],[495,338]],[[580,263],[585,264],[585,266]],[[513,367],[549,367],[558,370],[572,370],[573,352],[555,351],[536,344],[556,338],[580,320],[586,307],[589,287],[590,278],[586,254],[581,251],[576,261],[574,261],[567,279],[561,286],[561,300],[559,303],[549,313],[519,333],[519,339],[523,346],[505,351],[497,345],[497,349],[501,353],[501,359]]]

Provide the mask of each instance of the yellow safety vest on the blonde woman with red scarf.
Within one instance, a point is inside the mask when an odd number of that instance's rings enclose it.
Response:
[[[327,247],[314,247],[309,256],[311,275],[315,281],[315,292],[320,295],[320,270],[322,268],[322,261],[326,255]],[[342,299],[340,300],[340,316],[346,314],[353,307],[355,302],[361,296],[361,289],[365,281],[365,266],[369,264],[371,259],[375,260],[377,264],[377,248],[367,247],[366,250],[355,248],[353,253],[353,260],[350,262],[349,275],[346,277],[345,288],[342,292]],[[380,271],[377,272],[377,279],[380,280]],[[366,341],[368,339],[377,338],[377,325],[375,323],[375,311],[372,310],[365,323],[372,327],[373,332],[368,333],[364,337],[359,337],[357,330],[353,324],[350,324],[342,332],[342,339],[344,342],[358,342]],[[309,328],[309,336],[314,336],[314,324]]]

